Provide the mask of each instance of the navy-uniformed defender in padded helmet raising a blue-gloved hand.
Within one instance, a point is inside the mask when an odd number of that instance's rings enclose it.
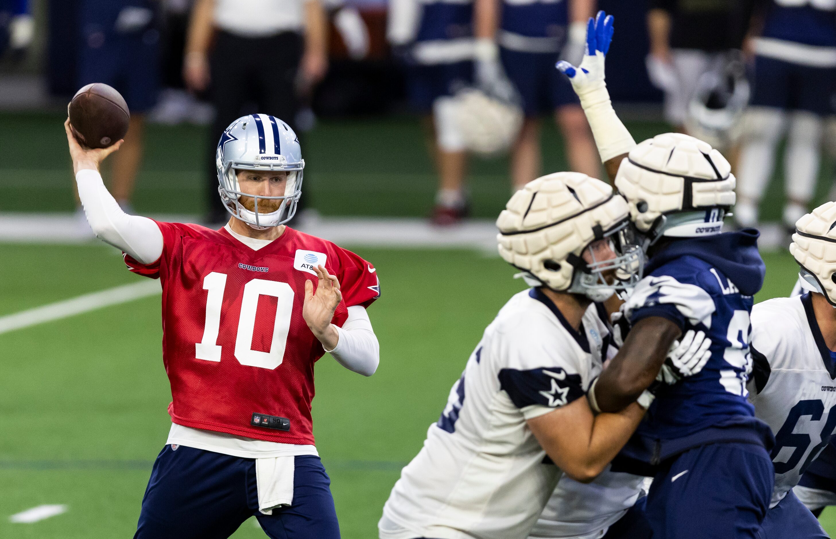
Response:
[[[774,484],[772,433],[757,419],[746,387],[752,296],[764,277],[758,234],[721,232],[735,178],[710,145],[680,134],[635,145],[604,81],[612,33],[612,18],[599,13],[589,24],[584,62],[558,64],[579,94],[648,256],[648,275],[624,304],[632,328],[589,401],[604,412],[624,409],[654,382],[675,338],[704,332],[711,342],[706,363],[656,389],[613,467],[654,475],[646,504],[654,536],[755,537]]]

